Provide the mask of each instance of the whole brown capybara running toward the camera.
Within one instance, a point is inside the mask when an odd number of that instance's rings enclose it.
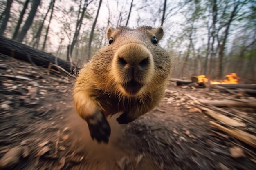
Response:
[[[117,121],[127,124],[160,102],[171,71],[171,57],[157,43],[163,35],[148,26],[108,29],[109,45],[83,66],[74,87],[76,110],[92,139],[108,142],[108,115],[121,113]]]

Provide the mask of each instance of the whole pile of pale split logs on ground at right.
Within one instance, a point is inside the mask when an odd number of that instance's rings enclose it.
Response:
[[[208,116],[216,121],[210,121],[213,128],[217,128],[232,137],[243,141],[244,143],[256,148],[256,122],[254,119],[243,115],[227,111],[225,108],[256,108],[256,100],[252,99],[231,99],[223,98],[222,100],[197,99],[186,94],[194,101],[194,106],[202,110]],[[238,112],[238,110],[236,110]],[[248,129],[254,129],[253,131]]]

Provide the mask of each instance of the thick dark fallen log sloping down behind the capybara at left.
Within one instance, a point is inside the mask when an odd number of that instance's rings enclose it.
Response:
[[[48,68],[50,63],[54,63],[69,73],[75,69],[68,61],[3,36],[0,36],[0,53],[44,68]],[[59,70],[57,67],[52,67],[52,69]]]

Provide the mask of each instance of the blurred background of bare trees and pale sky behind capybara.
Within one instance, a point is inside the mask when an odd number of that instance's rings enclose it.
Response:
[[[0,0],[1,36],[77,66],[119,25],[162,26],[172,77],[256,80],[255,0]]]

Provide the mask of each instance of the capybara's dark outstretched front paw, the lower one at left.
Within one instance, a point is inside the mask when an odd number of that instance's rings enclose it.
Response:
[[[101,113],[95,113],[93,116],[87,117],[86,121],[90,130],[92,139],[96,139],[98,142],[108,143],[111,129],[106,117]]]

